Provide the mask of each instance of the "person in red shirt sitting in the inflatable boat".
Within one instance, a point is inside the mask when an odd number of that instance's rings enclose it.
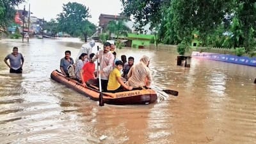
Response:
[[[92,61],[92,58],[95,54],[90,54],[89,55],[89,62],[84,64],[83,68],[80,71],[80,77],[82,80],[82,85],[85,87],[86,82],[91,79],[95,79],[95,63]]]

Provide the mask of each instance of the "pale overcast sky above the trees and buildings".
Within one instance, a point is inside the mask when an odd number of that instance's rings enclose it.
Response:
[[[68,2],[77,2],[88,7],[90,15],[92,15],[89,20],[95,25],[99,25],[100,13],[118,15],[122,11],[120,0],[26,0],[18,8],[23,9],[26,5],[26,10],[28,10],[30,4],[30,11],[33,12],[31,16],[44,17],[45,20],[49,21],[51,18],[55,19],[56,15],[62,12],[63,4]]]

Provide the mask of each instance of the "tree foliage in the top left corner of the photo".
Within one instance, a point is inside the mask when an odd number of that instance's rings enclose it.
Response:
[[[15,6],[25,0],[0,0],[0,27],[6,28],[15,17]]]

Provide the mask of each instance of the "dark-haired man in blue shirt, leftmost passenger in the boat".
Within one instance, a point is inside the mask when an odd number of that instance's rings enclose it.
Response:
[[[65,57],[63,57],[60,60],[60,70],[63,73],[63,75],[65,75],[65,76],[69,76],[68,75],[68,66],[70,64],[74,64],[74,60],[72,59],[72,57],[70,57],[70,55],[71,55],[70,50],[66,50]]]

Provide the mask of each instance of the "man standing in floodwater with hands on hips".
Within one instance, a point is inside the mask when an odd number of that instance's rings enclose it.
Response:
[[[9,59],[10,64],[7,60]],[[22,73],[22,66],[24,64],[24,57],[18,52],[17,47],[13,47],[12,54],[8,54],[4,58],[4,62],[10,68],[10,73]]]

